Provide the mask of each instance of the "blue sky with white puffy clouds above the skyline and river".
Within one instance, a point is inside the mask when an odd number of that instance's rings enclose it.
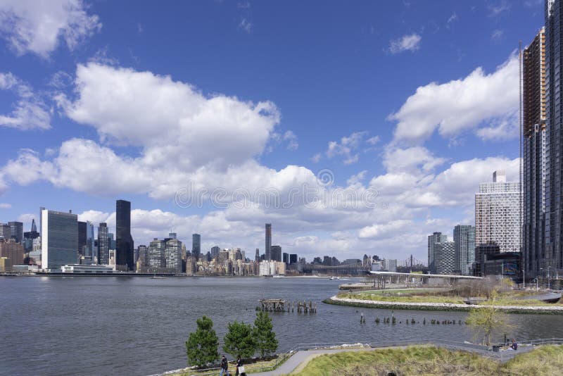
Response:
[[[543,1],[0,0],[0,25],[0,222],[111,227],[129,199],[137,244],[172,227],[253,254],[271,222],[308,258],[424,260],[426,234],[474,222],[479,182],[517,179],[518,41]],[[189,184],[377,207],[178,206]]]

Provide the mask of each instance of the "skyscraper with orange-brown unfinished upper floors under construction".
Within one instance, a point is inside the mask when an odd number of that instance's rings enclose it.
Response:
[[[522,54],[523,232],[526,274],[537,275],[545,258],[545,27]]]

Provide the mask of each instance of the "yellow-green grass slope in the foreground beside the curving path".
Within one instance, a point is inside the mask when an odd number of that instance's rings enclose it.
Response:
[[[560,375],[562,367],[562,346],[542,346],[504,364],[464,351],[411,346],[319,356],[296,375]]]

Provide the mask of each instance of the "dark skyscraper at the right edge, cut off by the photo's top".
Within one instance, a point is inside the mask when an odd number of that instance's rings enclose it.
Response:
[[[545,169],[545,255],[538,255],[538,266],[563,271],[563,106],[562,56],[563,4],[545,1],[545,118],[548,148]],[[502,251],[502,248],[501,248]],[[533,266],[533,265],[530,265]]]

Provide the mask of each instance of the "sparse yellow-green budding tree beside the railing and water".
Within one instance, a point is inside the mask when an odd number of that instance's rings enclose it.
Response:
[[[497,289],[493,289],[490,299],[483,307],[473,308],[467,316],[467,325],[473,328],[475,337],[483,335],[483,344],[491,344],[491,337],[502,330],[511,327],[507,316],[495,308],[495,300],[498,294]]]

